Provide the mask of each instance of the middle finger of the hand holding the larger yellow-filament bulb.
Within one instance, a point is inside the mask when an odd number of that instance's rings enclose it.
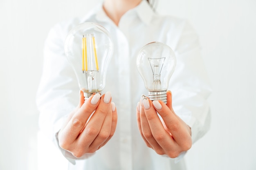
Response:
[[[78,142],[81,146],[88,148],[99,135],[99,132],[103,127],[103,123],[106,118],[106,115],[111,114],[111,117],[112,117],[110,102],[111,102],[110,92],[107,92],[106,94],[102,95],[97,109],[95,110],[94,114],[86,124],[85,129],[81,132],[81,135],[78,138]],[[111,119],[109,119],[109,117],[107,119],[108,119],[108,122],[109,120],[111,122]],[[98,143],[99,142],[97,142],[97,144]]]

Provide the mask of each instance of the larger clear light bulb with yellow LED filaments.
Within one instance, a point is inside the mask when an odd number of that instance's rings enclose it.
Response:
[[[85,100],[100,93],[106,84],[106,72],[113,43],[101,25],[85,22],[74,27],[65,40],[65,55],[72,65]]]

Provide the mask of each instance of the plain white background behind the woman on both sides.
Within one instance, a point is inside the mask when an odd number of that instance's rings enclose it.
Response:
[[[0,1],[0,170],[37,169],[36,89],[43,43],[55,23],[99,0]],[[200,36],[213,93],[211,129],[185,159],[189,170],[256,169],[256,0],[159,0]]]

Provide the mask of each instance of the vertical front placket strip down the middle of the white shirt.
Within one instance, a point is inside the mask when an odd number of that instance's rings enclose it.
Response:
[[[131,108],[130,108],[130,61],[129,44],[125,35],[117,32],[119,39],[119,130],[120,130],[120,166],[121,170],[132,170],[132,134],[131,134]]]

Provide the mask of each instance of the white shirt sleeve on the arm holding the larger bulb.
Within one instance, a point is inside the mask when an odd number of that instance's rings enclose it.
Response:
[[[74,164],[76,159],[85,159],[92,154],[76,158],[58,145],[58,131],[66,121],[67,115],[79,103],[79,86],[76,76],[64,53],[64,42],[68,31],[69,28],[65,25],[57,24],[49,31],[45,40],[43,73],[36,104],[40,112],[40,132],[54,142],[63,155]]]

